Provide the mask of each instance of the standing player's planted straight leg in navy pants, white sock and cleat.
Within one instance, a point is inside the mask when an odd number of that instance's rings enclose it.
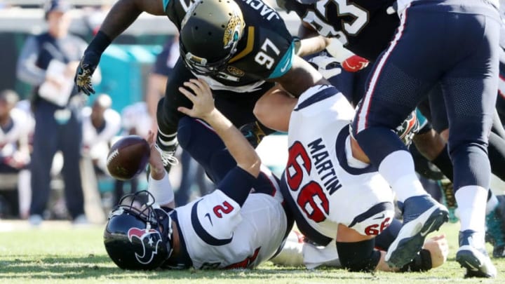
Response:
[[[456,259],[467,276],[494,277],[497,271],[487,256],[484,236],[491,175],[487,137],[498,88],[499,22],[485,15],[451,14],[446,23],[452,33],[445,43],[442,64],[452,68],[442,83],[461,223]],[[462,47],[456,43],[464,40],[471,44]],[[447,57],[449,53],[452,58]]]

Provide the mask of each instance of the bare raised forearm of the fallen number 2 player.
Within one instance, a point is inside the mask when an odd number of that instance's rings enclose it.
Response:
[[[242,133],[224,117],[220,111],[214,109],[206,117],[203,117],[215,130],[217,135],[223,140],[231,156],[234,157],[237,165],[251,175],[257,177],[260,174],[260,156],[243,137]]]

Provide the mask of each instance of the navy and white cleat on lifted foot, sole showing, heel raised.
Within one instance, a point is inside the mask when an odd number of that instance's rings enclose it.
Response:
[[[389,246],[386,263],[391,267],[403,267],[421,250],[424,239],[447,222],[445,206],[431,196],[412,196],[403,204],[403,225],[398,236]]]

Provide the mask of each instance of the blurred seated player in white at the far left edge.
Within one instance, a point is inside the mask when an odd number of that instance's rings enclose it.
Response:
[[[32,116],[16,108],[18,94],[13,90],[0,92],[0,177],[1,189],[13,187],[8,180],[14,180],[18,188],[20,217],[28,217],[31,195],[29,184],[29,134],[34,127]],[[8,179],[8,176],[14,179]],[[11,204],[13,205],[13,204]],[[12,212],[13,213],[13,212]]]

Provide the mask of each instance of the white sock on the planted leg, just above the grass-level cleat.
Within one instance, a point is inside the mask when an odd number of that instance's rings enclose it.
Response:
[[[476,185],[467,185],[456,191],[456,202],[459,208],[461,231],[485,231],[485,206],[487,189]]]

